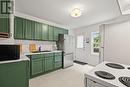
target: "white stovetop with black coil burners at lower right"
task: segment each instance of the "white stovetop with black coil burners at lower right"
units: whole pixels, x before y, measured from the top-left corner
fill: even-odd
[[[110,67],[109,64],[114,65],[114,68]],[[121,66],[122,68],[119,68],[118,65]],[[113,75],[115,79],[107,79],[106,77],[108,74],[103,74],[106,75],[105,77],[103,77],[102,75],[99,76],[99,74],[96,73],[96,72],[99,73],[99,71],[107,72],[111,74],[111,76]],[[97,65],[90,72],[87,72],[85,76],[86,78],[89,78],[98,83],[102,83],[103,85],[108,87],[130,87],[126,86],[119,80],[119,78],[121,77],[130,77],[130,66],[124,64],[104,61],[103,63]]]

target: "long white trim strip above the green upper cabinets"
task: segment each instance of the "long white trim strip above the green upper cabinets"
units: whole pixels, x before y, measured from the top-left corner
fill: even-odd
[[[57,24],[57,23],[46,21],[46,20],[43,20],[43,19],[31,16],[31,15],[28,15],[28,14],[20,13],[20,12],[15,12],[14,15],[18,16],[18,17],[25,18],[25,19],[42,22],[42,23],[45,23],[45,24],[48,24],[48,25],[52,25],[52,26],[56,26],[56,27],[62,27],[62,28],[65,28],[65,29],[71,29],[69,26],[60,25],[60,24]]]

